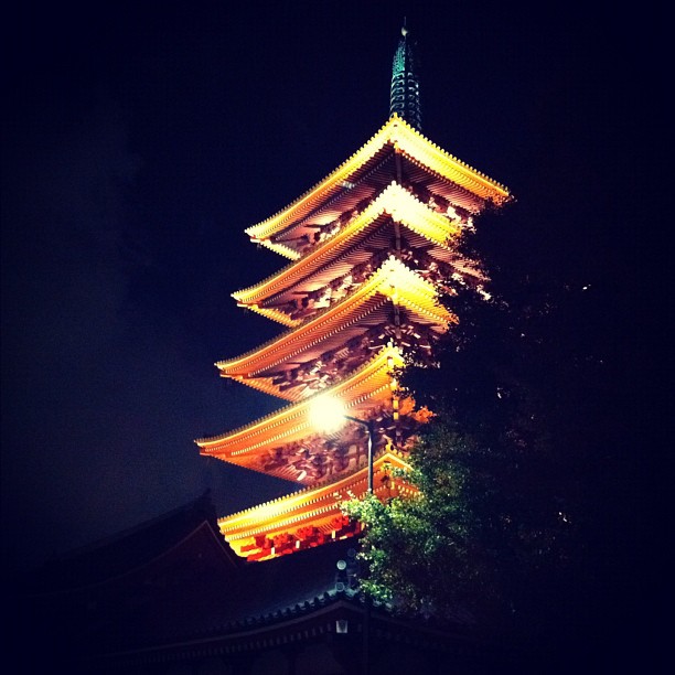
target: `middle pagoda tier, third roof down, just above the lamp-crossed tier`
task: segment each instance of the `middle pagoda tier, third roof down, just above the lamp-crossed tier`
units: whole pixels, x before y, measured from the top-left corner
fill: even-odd
[[[394,257],[334,306],[243,356],[216,363],[224,377],[299,400],[347,377],[390,341],[431,344],[457,319],[433,285]]]

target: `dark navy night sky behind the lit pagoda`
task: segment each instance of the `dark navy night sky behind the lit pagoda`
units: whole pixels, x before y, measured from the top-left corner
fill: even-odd
[[[424,132],[515,193],[504,226],[523,259],[592,270],[614,301],[618,288],[639,301],[640,242],[658,227],[644,169],[658,153],[665,18],[492,4],[4,10],[10,560],[62,554],[207,488],[221,515],[293,489],[202,458],[193,439],[283,405],[213,365],[280,330],[229,297],[286,264],[244,229],[386,121],[405,15]]]

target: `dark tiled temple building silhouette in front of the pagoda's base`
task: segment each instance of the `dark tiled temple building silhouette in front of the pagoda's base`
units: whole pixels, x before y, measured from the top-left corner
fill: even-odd
[[[364,635],[354,539],[249,562],[208,494],[10,589],[21,671],[133,674],[486,673],[513,655],[458,617],[374,607]],[[367,638],[367,641],[366,641]]]

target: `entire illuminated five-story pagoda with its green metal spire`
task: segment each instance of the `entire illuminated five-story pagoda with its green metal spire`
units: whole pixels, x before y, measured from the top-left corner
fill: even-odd
[[[459,253],[489,206],[511,200],[500,183],[421,133],[415,45],[404,28],[394,56],[389,118],[356,152],[291,204],[248,227],[250,240],[288,259],[233,293],[283,329],[221,361],[221,376],[281,401],[250,424],[195,442],[200,453],[293,481],[299,490],[222,518],[233,550],[267,560],[358,534],[341,504],[369,489],[406,493],[392,468],[428,411],[399,390],[414,358],[433,362],[459,319],[439,301],[458,285],[481,291],[480,267]],[[340,400],[345,425],[312,425],[312,406]]]

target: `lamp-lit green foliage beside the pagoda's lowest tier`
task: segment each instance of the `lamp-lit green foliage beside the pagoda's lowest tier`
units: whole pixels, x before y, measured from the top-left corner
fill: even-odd
[[[406,479],[420,489],[418,495],[386,504],[368,496],[345,505],[366,526],[360,555],[369,576],[363,587],[375,599],[441,614],[471,601],[481,576],[480,567],[469,564],[476,525],[465,496],[467,472],[452,457],[470,452],[464,439],[438,429],[413,452]]]

